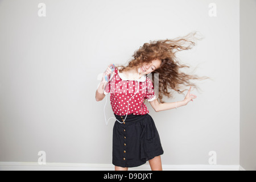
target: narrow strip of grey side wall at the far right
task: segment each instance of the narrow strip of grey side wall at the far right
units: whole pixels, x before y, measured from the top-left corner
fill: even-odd
[[[256,170],[256,1],[240,1],[240,164]]]

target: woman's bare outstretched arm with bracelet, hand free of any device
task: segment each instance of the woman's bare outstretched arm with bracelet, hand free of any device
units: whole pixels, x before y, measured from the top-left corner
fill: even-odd
[[[189,88],[188,93],[185,96],[183,101],[159,103],[158,100],[155,99],[154,101],[150,101],[150,105],[153,107],[153,109],[156,112],[159,112],[162,110],[174,109],[174,108],[176,108],[176,106],[177,107],[185,106],[188,104],[189,101],[193,101],[193,99],[196,98],[195,95],[190,94],[190,90],[191,90],[191,87]]]

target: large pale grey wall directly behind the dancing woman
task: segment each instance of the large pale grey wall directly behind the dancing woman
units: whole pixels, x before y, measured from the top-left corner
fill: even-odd
[[[179,58],[213,81],[177,110],[147,103],[162,163],[208,164],[216,151],[217,164],[239,164],[239,16],[238,0],[0,1],[0,161],[37,162],[46,151],[49,163],[112,163],[114,122],[105,125],[105,99],[95,101],[97,77],[145,42],[199,31],[205,38]]]

